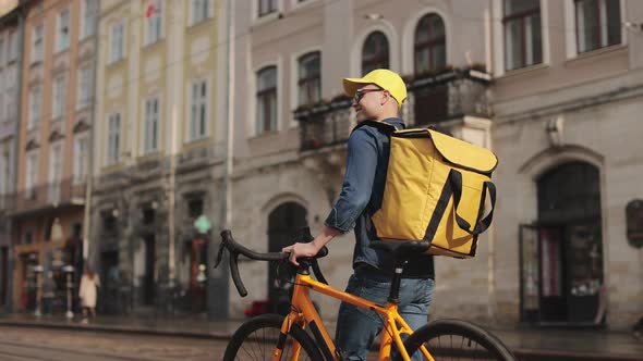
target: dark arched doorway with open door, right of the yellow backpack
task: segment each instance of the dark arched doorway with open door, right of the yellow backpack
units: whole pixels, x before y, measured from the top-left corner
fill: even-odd
[[[538,221],[521,226],[521,314],[539,324],[604,322],[598,170],[558,166],[537,180]]]

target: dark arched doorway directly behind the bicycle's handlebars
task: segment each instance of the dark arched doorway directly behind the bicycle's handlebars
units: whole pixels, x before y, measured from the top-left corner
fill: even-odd
[[[308,224],[306,214],[306,209],[295,202],[282,203],[270,212],[268,215],[268,251],[279,252],[283,247],[292,245],[299,231]],[[291,286],[288,266],[270,263],[269,267],[269,307],[274,312],[287,313],[290,311],[288,307],[288,300],[290,299],[288,289]]]

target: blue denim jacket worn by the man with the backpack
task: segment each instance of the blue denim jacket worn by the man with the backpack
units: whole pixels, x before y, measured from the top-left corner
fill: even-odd
[[[405,127],[398,117],[384,122],[398,129]],[[373,122],[361,123],[351,133],[341,194],[325,224],[342,233],[354,228],[353,267],[367,264],[384,273],[392,272],[388,252],[369,247],[372,240],[378,239],[371,216],[381,208],[389,155],[389,135]],[[420,256],[411,260],[404,276],[434,278],[433,257]]]

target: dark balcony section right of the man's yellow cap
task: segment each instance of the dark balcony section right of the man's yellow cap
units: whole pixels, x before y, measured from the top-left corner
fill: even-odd
[[[489,74],[473,69],[416,76],[408,84],[407,124],[435,125],[465,115],[490,117],[490,78]]]

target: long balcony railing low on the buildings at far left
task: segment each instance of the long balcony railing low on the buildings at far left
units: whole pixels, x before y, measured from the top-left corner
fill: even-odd
[[[5,196],[3,202],[4,209],[10,213],[37,211],[61,206],[80,206],[85,202],[85,184],[64,179],[39,185]]]

